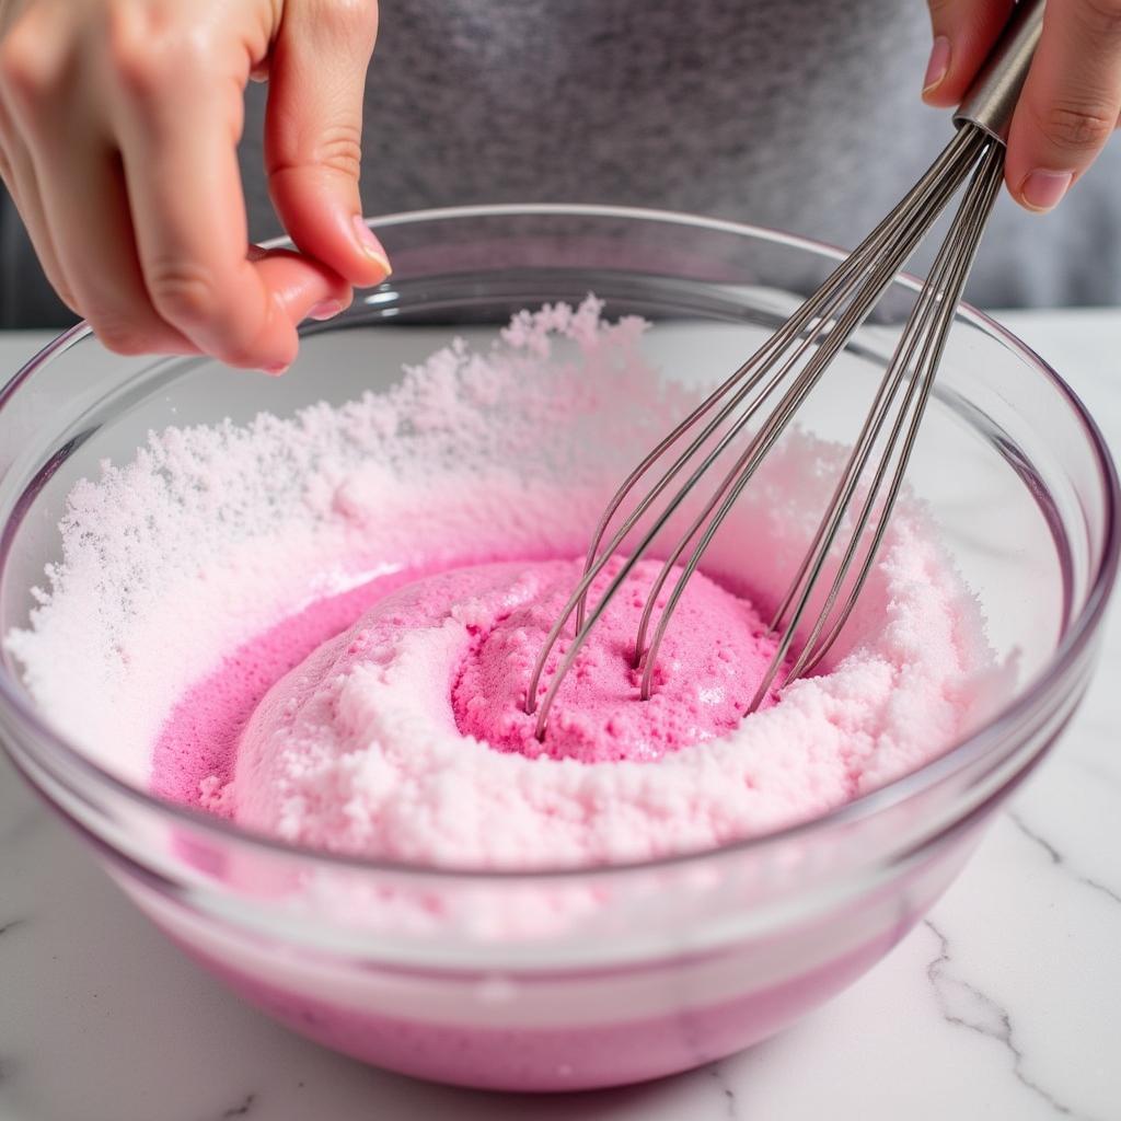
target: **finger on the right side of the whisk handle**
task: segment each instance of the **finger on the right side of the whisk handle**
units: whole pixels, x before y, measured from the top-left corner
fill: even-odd
[[[1032,211],[1056,206],[1121,114],[1121,0],[1050,0],[1012,119],[1004,177]]]

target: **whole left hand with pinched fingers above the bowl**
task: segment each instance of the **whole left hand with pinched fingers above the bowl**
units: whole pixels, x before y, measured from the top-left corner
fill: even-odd
[[[124,354],[280,372],[380,282],[358,192],[377,0],[0,0],[0,174],[52,285]],[[250,245],[243,93],[298,252]]]

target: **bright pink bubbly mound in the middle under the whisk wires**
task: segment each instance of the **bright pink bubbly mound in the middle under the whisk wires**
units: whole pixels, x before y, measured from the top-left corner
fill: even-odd
[[[622,567],[614,558],[592,587],[591,602]],[[640,698],[642,670],[633,665],[634,639],[647,595],[661,565],[641,560],[612,597],[562,682],[537,739],[537,716],[526,713],[534,665],[558,618],[580,566],[548,592],[473,637],[452,687],[456,726],[466,735],[529,758],[611,762],[652,761],[731,732],[775,654],[776,638],[754,608],[702,573],[686,585],[667,629],[652,675],[652,695]],[[656,605],[665,606],[680,569],[675,569]],[[650,631],[652,636],[652,627]],[[553,648],[537,687],[544,697],[571,646],[572,623]],[[771,692],[762,707],[775,701]]]

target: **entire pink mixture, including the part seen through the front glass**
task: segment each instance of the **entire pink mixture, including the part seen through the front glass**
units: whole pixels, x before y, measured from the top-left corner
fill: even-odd
[[[630,615],[558,694],[564,734],[544,749],[534,736],[519,691],[559,602],[532,584],[538,562],[580,552],[611,481],[687,404],[673,387],[651,395],[640,334],[600,322],[593,300],[546,308],[485,353],[441,351],[385,396],[155,435],[136,463],[76,489],[56,594],[11,639],[37,700],[129,778],[251,833],[371,861],[177,825],[178,863],[207,881],[200,899],[123,884],[239,992],[341,1050],[508,1088],[679,1071],[846,984],[960,862],[963,845],[934,843],[863,882],[854,870],[897,847],[891,815],[859,836],[810,831],[759,868],[721,851],[923,766],[975,719],[991,651],[910,501],[836,665],[780,703],[740,720],[769,660],[757,617],[729,645],[683,601],[687,626],[636,710],[640,597],[624,596]],[[550,356],[554,335],[574,360]],[[624,428],[619,400],[642,402]],[[816,524],[807,501],[841,457],[808,435],[778,448],[706,556],[712,572],[777,602]],[[421,567],[322,597],[398,557]],[[525,618],[502,615],[503,585],[481,573],[485,586],[444,587],[442,613],[425,615],[451,565],[495,558],[529,558],[506,584]],[[321,599],[281,618],[308,595]],[[688,853],[707,855],[663,863]],[[595,877],[619,863],[642,867]],[[441,879],[456,868],[482,874]],[[535,874],[546,868],[573,871]],[[797,906],[753,923],[776,898]],[[336,942],[345,954],[322,948]]]

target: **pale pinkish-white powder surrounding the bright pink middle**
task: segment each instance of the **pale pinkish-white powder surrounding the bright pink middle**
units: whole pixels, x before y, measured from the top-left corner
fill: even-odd
[[[645,324],[601,312],[592,297],[522,312],[489,348],[455,341],[386,392],[169,428],[105,464],[71,495],[30,628],[6,639],[36,701],[103,767],[149,784],[187,687],[286,615],[376,573],[581,555],[617,481],[710,388],[666,381],[642,356]],[[787,438],[706,571],[773,604],[841,458]],[[823,813],[921,766],[980,719],[999,676],[978,606],[910,497],[827,673],[657,762],[492,750],[433,716],[452,683],[429,674],[443,693],[416,688],[400,666],[430,651],[408,633],[399,647],[380,678],[365,664],[344,675],[345,734],[321,730],[303,762],[274,743],[239,761],[232,793],[212,780],[200,797],[290,840],[423,863],[657,856]],[[308,797],[327,787],[331,799]]]

